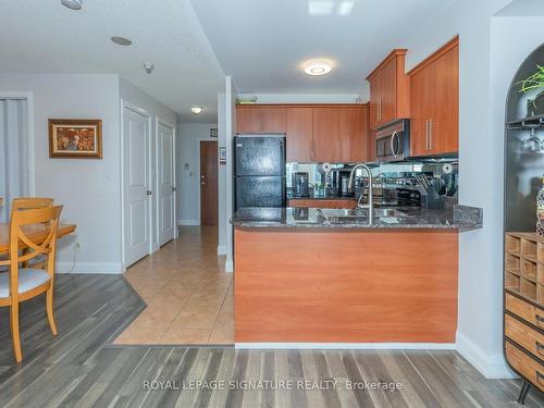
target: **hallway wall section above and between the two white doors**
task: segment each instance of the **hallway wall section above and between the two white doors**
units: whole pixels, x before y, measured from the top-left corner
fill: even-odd
[[[120,79],[119,82],[119,91],[120,91],[120,98],[124,102],[128,102],[132,106],[135,106],[137,108],[144,109],[147,114],[151,118],[151,190],[153,193],[158,191],[157,187],[157,121],[163,121],[172,126],[176,126],[177,122],[177,114],[170,108],[168,108],[165,104],[159,102],[157,99],[151,97],[150,95],[144,92],[141,89],[136,87],[135,85],[131,84],[129,82],[125,79]],[[121,103],[118,106],[118,111],[121,112]],[[175,131],[177,133],[177,129]],[[177,141],[180,137],[176,135]],[[176,141],[176,143],[177,143]],[[120,158],[120,164],[121,164],[121,158]],[[177,163],[176,163],[177,166]],[[121,171],[121,168],[120,168]],[[177,181],[176,181],[177,182]],[[121,194],[121,188],[120,188],[120,194]],[[157,194],[153,196],[153,198],[157,198]],[[153,199],[152,205],[151,205],[151,215],[152,220],[158,220],[158,207],[157,202]],[[159,233],[157,228],[157,222],[153,222],[151,225],[152,230],[152,245],[153,245],[153,251],[159,249]]]

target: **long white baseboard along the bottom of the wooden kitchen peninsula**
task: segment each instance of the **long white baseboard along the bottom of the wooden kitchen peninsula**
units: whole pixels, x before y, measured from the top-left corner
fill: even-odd
[[[275,349],[455,350],[454,343],[235,343],[234,346]]]

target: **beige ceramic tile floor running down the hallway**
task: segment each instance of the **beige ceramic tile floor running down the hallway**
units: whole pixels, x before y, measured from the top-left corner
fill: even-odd
[[[234,344],[232,274],[217,248],[217,227],[184,226],[132,265],[125,277],[147,308],[113,344]]]

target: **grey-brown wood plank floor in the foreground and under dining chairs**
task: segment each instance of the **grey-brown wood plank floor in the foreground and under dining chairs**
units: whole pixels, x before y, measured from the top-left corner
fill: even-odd
[[[115,346],[111,342],[144,308],[123,276],[59,275],[57,294],[57,337],[42,296],[24,304],[20,366],[13,363],[7,311],[0,313],[1,407],[517,406],[520,381],[485,380],[455,351]],[[146,388],[146,381],[158,386],[154,380],[178,390]],[[195,383],[212,380],[224,385],[208,390]],[[271,386],[293,381],[294,390],[228,390],[231,381],[255,386],[259,380]],[[302,380],[311,383],[297,390]],[[341,388],[309,390],[327,380]],[[348,380],[398,382],[403,390],[354,392],[345,390]],[[543,407],[542,394],[531,391],[526,406]]]

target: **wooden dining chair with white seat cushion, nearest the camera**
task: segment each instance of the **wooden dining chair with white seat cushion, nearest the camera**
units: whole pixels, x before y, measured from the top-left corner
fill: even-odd
[[[20,302],[46,293],[47,318],[51,332],[57,335],[53,317],[53,283],[57,228],[61,211],[62,206],[57,206],[11,213],[9,259],[0,261],[0,264],[9,265],[8,272],[0,273],[0,307],[10,307],[11,338],[17,362],[23,360],[18,332]],[[33,240],[38,234],[44,236],[44,233],[47,234],[44,240]],[[22,254],[22,247],[27,247],[28,251]],[[47,257],[47,270],[20,268],[20,263],[40,255]]]

